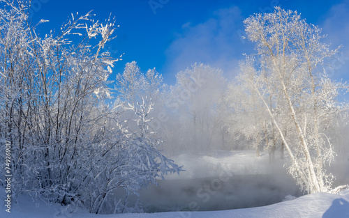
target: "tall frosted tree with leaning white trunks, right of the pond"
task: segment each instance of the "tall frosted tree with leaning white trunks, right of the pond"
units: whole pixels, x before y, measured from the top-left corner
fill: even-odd
[[[291,10],[276,7],[244,23],[257,54],[242,64],[243,82],[269,114],[288,152],[289,173],[306,192],[328,192],[333,180],[325,165],[334,152],[326,130],[336,114],[348,109],[337,100],[348,86],[323,70],[338,49],[330,50],[321,42],[321,29]]]

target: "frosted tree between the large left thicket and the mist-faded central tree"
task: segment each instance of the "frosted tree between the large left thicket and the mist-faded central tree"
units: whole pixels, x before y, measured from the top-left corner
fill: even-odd
[[[122,110],[128,120],[128,128],[140,137],[156,134],[152,128],[155,109],[160,106],[163,95],[163,77],[154,69],[145,75],[135,61],[126,63],[122,74],[117,75],[115,90],[124,102]],[[158,112],[158,111],[156,111]]]

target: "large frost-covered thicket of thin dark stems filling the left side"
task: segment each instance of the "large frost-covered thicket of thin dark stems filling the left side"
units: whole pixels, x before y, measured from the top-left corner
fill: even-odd
[[[0,142],[12,146],[13,199],[29,192],[90,212],[128,212],[128,194],[181,170],[155,141],[130,134],[122,105],[104,104],[118,61],[102,52],[114,38],[114,20],[102,24],[90,13],[76,14],[57,33],[40,37],[27,1],[1,3]],[[144,111],[139,116],[146,123]],[[126,190],[122,203],[112,198],[119,188]]]

